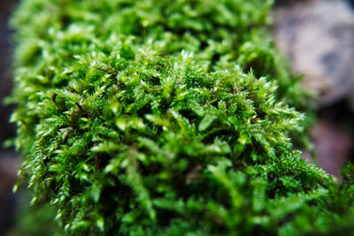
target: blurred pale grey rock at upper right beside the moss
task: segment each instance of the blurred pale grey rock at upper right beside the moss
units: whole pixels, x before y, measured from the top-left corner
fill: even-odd
[[[273,12],[274,36],[304,85],[327,106],[349,99],[354,111],[354,12],[342,0],[291,1]]]

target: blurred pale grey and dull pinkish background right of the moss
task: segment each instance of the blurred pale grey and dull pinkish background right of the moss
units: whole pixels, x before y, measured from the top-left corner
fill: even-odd
[[[279,0],[273,9],[275,43],[294,74],[317,93],[312,141],[320,167],[341,179],[353,158],[354,1]],[[304,158],[314,159],[304,152]],[[351,160],[350,160],[351,159]]]

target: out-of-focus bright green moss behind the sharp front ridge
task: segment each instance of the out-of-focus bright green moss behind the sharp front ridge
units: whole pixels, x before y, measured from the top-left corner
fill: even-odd
[[[57,60],[72,62],[73,55],[96,48],[109,52],[114,39],[131,37],[132,43],[150,44],[160,55],[194,52],[209,70],[233,69],[278,81],[279,98],[308,107],[296,80],[290,77],[286,60],[273,47],[268,28],[269,0],[25,0],[12,20],[21,45],[18,63],[37,65]],[[58,45],[58,37],[66,41]],[[90,48],[91,47],[91,48]],[[47,52],[46,56],[41,51]],[[50,69],[49,69],[50,70]]]

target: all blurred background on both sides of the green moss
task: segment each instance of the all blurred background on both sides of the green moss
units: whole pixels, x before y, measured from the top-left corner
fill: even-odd
[[[13,107],[3,100],[12,88],[8,19],[16,3],[0,0],[0,143],[15,135],[8,122]],[[275,42],[293,73],[304,75],[304,86],[318,93],[312,128],[317,162],[341,179],[343,164],[354,161],[354,0],[279,0],[273,19]],[[303,156],[315,159],[306,151]],[[12,194],[19,165],[13,148],[0,145],[0,235],[53,235],[58,232],[51,222],[53,209],[29,208],[26,187]]]

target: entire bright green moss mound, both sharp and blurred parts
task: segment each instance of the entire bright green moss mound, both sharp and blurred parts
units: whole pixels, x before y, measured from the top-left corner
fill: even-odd
[[[351,165],[339,185],[292,149],[306,96],[270,6],[23,0],[9,100],[32,202],[72,235],[351,231]]]

